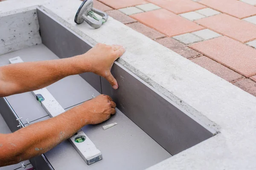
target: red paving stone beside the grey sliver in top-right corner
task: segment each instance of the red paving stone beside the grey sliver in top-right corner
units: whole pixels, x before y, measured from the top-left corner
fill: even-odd
[[[198,1],[198,3],[240,19],[256,14],[255,6],[243,3],[239,0],[201,0]]]

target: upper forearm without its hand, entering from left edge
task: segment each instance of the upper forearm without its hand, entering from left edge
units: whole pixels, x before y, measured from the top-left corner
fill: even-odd
[[[88,64],[76,56],[5,65],[0,67],[0,97],[37,90],[64,77],[88,72]]]

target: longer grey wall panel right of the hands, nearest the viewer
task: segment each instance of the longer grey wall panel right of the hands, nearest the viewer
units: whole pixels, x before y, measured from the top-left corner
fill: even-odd
[[[213,136],[118,63],[111,72],[119,88],[113,90],[102,78],[102,94],[110,95],[120,111],[172,155]]]

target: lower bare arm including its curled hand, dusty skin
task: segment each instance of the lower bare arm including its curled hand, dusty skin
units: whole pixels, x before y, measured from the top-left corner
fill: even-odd
[[[100,95],[67,112],[14,133],[0,134],[0,167],[17,164],[55,147],[81,127],[98,124],[116,113],[111,97]]]

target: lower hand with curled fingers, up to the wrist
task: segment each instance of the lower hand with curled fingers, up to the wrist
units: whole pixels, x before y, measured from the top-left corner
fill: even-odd
[[[80,105],[85,111],[87,124],[95,125],[108,120],[116,113],[116,103],[110,96],[102,94]]]

